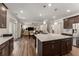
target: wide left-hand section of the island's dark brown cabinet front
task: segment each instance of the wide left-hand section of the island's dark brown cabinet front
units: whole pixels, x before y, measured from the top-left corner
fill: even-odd
[[[60,42],[59,41],[51,41],[49,43],[47,42],[47,44],[43,46],[43,55],[45,56],[60,55]]]

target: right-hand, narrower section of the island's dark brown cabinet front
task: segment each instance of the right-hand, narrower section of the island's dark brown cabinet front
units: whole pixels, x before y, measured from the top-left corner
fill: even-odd
[[[61,40],[61,55],[65,55],[72,50],[72,39]]]

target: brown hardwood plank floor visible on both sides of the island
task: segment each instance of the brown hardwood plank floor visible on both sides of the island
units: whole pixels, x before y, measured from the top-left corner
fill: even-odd
[[[14,42],[12,56],[36,56],[35,40],[30,37],[22,37]],[[79,48],[72,47],[72,51],[65,56],[79,56]]]

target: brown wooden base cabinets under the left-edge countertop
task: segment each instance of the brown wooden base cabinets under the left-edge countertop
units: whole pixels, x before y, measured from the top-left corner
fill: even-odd
[[[9,56],[13,51],[13,38],[0,45],[0,56]]]

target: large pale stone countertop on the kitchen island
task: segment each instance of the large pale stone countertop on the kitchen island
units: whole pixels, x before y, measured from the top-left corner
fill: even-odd
[[[35,36],[41,42],[50,41],[50,40],[60,40],[60,39],[72,38],[72,36],[66,36],[66,35],[61,35],[61,34],[38,34],[38,35],[35,35]]]

